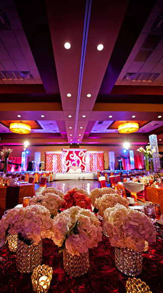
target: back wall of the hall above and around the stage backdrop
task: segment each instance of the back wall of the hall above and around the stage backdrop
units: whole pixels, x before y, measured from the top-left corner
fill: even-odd
[[[134,151],[134,155],[141,155],[143,159],[143,155],[136,150],[140,148],[142,145],[131,145],[130,150]],[[11,157],[21,157],[21,153],[23,151],[23,146],[22,145],[7,145],[3,146],[3,148],[7,149],[12,149],[13,152],[11,153]],[[62,151],[63,148],[69,149],[68,145],[29,145],[27,150],[29,151],[28,155],[28,161],[33,161],[34,160],[34,152],[40,152],[41,153],[41,161],[45,161],[45,152],[57,152],[57,151]],[[123,148],[121,145],[80,145],[80,149],[84,148],[87,149],[88,151],[104,151],[104,168],[108,169],[109,167],[109,157],[108,157],[108,152],[109,151],[114,151],[115,157],[119,155],[126,155],[123,153]],[[163,145],[159,146],[159,151],[163,152]],[[117,167],[118,162],[115,160],[115,167]],[[43,165],[43,169],[44,169]]]

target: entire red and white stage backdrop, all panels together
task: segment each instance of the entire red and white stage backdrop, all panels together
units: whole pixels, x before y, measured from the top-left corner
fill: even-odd
[[[84,172],[104,169],[104,152],[87,152],[87,149],[63,149],[63,152],[46,152],[46,170],[68,172],[80,168]]]

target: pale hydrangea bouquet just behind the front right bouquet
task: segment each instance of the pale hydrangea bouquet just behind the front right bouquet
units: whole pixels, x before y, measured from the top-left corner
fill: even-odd
[[[126,208],[129,207],[129,203],[125,197],[121,197],[117,193],[104,194],[95,200],[94,206],[98,209],[99,215],[103,217],[104,211],[107,208],[112,208],[116,203],[123,204]]]

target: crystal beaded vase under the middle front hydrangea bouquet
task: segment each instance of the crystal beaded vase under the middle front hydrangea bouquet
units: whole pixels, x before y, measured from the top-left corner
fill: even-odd
[[[89,252],[71,255],[67,249],[63,250],[63,267],[70,277],[80,277],[86,274],[90,267]]]

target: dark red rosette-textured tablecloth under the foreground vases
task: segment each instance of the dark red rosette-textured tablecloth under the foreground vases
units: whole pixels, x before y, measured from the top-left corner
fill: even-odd
[[[90,269],[81,277],[69,277],[63,269],[63,255],[52,240],[43,240],[43,263],[53,268],[49,293],[125,293],[129,276],[119,272],[114,263],[114,248],[102,237],[98,247],[89,250]],[[6,262],[0,266],[0,291],[32,293],[31,273],[16,269],[16,254],[8,245],[0,252]],[[157,240],[143,254],[143,271],[138,276],[149,285],[152,293],[163,293],[163,240]]]

